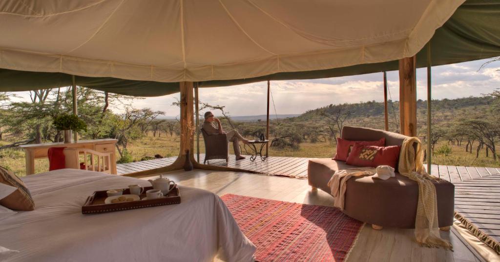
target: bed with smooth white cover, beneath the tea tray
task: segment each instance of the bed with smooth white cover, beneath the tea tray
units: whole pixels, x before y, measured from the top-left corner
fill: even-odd
[[[23,177],[35,210],[0,220],[9,261],[253,261],[255,246],[224,202],[206,190],[179,186],[180,204],[81,214],[95,190],[148,181],[77,169]]]

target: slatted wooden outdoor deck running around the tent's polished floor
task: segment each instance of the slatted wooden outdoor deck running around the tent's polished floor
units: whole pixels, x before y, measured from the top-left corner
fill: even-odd
[[[196,155],[195,155],[196,157]],[[204,154],[200,154],[202,162]],[[176,157],[117,164],[118,174],[133,173],[162,167]],[[246,169],[270,175],[307,178],[307,161],[304,157],[269,156],[265,161],[249,157],[236,161],[210,160],[209,164]],[[432,165],[431,173],[455,185],[455,210],[469,219],[484,233],[500,241],[500,169],[490,167]]]

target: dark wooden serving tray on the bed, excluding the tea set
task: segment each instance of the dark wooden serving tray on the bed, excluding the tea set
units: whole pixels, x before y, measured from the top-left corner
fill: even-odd
[[[179,188],[177,185],[172,185],[174,188],[168,192],[166,197],[155,198],[155,199],[146,199],[146,200],[137,200],[137,201],[129,201],[129,202],[119,202],[119,203],[104,203],[104,199],[106,199],[107,194],[106,190],[95,191],[90,196],[87,197],[85,204],[81,207],[81,213],[83,214],[93,214],[93,213],[105,213],[105,212],[114,212],[114,211],[122,211],[128,209],[136,209],[143,207],[151,207],[158,205],[166,205],[166,204],[178,204],[180,203],[180,194]],[[152,186],[144,186],[144,190],[139,197],[142,199],[146,196],[146,190],[152,189]],[[123,194],[129,194],[130,190],[128,188],[120,189],[123,190]]]

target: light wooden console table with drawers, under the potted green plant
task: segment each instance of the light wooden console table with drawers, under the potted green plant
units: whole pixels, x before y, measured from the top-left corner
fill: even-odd
[[[116,153],[115,143],[116,139],[95,139],[95,140],[79,140],[73,143],[37,143],[37,144],[23,144],[19,147],[24,149],[26,158],[26,175],[34,173],[34,159],[47,157],[47,151],[50,147],[69,147],[69,148],[88,148],[97,152],[111,153],[111,173],[116,174]]]

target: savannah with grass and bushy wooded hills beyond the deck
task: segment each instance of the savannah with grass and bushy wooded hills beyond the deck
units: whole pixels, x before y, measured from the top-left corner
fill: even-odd
[[[494,142],[500,140],[500,125],[496,120],[497,111],[500,106],[500,93],[496,96],[465,97],[457,99],[443,99],[432,101],[432,135],[440,134],[434,145],[433,164],[461,165],[461,166],[485,166],[500,167],[500,158],[493,159],[493,153],[489,151],[486,156],[486,147],[479,148],[476,157],[477,139],[471,138],[473,129],[467,127],[468,121],[480,118],[488,128],[489,134],[493,134]],[[214,112],[217,116],[217,112]],[[389,100],[389,130],[397,131],[398,128],[398,102]],[[272,119],[270,122],[270,139],[280,138],[273,146],[269,147],[270,156],[289,157],[332,157],[335,152],[335,137],[339,136],[338,121],[342,119],[341,125],[363,126],[376,129],[384,128],[383,103],[368,101],[351,104],[327,105],[317,109],[308,110],[299,116],[285,119]],[[265,132],[265,121],[235,121],[231,123],[243,136],[254,139],[259,133]],[[163,120],[164,121],[164,120]],[[175,121],[175,120],[172,120]],[[230,123],[222,120],[224,130],[232,129]],[[178,128],[178,123],[176,127]],[[426,137],[426,102],[417,101],[417,136],[422,141],[425,149],[428,139]],[[482,130],[482,128],[479,128]],[[476,128],[477,131],[477,128]],[[127,150],[131,157],[127,161],[139,161],[154,157],[159,154],[162,157],[177,156],[179,151],[178,130],[165,133],[165,130],[153,136],[152,131],[137,131],[136,138],[130,139]],[[487,135],[487,134],[486,134]],[[104,138],[104,137],[103,137]],[[18,139],[8,133],[3,135],[0,146],[12,143]],[[88,139],[88,138],[87,138]],[[475,139],[475,140],[474,140]],[[472,140],[472,152],[466,152],[467,141]],[[486,141],[486,140],[483,140]],[[200,134],[200,152],[204,152],[204,143]],[[196,143],[194,144],[196,148]],[[230,153],[233,153],[232,145],[229,145]],[[194,152],[196,150],[194,149]],[[498,151],[496,152],[499,154]],[[117,158],[119,158],[116,150]],[[146,158],[144,158],[146,157]],[[201,161],[203,159],[200,159]],[[24,175],[24,152],[18,147],[0,150],[0,165],[13,170],[17,175]],[[37,159],[35,162],[36,172],[48,169],[47,159]]]

